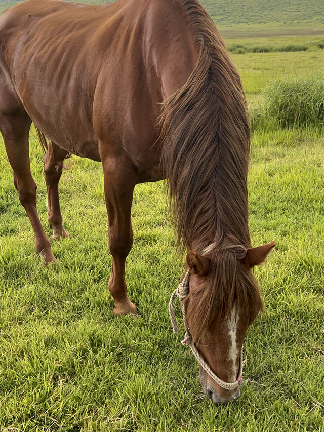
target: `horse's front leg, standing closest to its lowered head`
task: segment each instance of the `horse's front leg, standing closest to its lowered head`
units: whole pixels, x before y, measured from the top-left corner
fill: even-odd
[[[102,165],[112,255],[108,288],[115,302],[114,315],[125,315],[136,311],[128,298],[125,282],[125,261],[133,244],[131,207],[136,182],[128,162],[102,158]]]

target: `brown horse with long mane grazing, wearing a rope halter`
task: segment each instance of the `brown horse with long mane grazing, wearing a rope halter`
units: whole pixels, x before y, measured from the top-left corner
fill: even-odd
[[[1,17],[0,130],[36,251],[50,263],[29,166],[32,121],[50,139],[44,162],[55,238],[68,237],[58,195],[64,158],[102,163],[115,315],[136,310],[124,274],[134,186],[168,179],[178,246],[188,251],[187,322],[214,373],[235,381],[247,328],[262,309],[251,268],[274,243],[251,248],[246,99],[198,1],[27,0]],[[239,396],[239,385],[224,390],[202,369],[200,381],[215,403]]]

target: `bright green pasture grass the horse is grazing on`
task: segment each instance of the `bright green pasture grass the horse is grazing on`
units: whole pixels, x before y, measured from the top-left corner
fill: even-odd
[[[316,73],[324,50],[232,58],[252,109],[270,80]],[[50,236],[43,154],[33,131],[30,149],[39,216]],[[135,188],[126,278],[139,313],[116,319],[107,287],[111,256],[101,166],[75,156],[66,164],[60,197],[70,239],[52,241],[59,261],[45,267],[0,142],[1,430],[323,431],[321,131],[260,127],[253,133],[252,243],[275,240],[277,246],[255,271],[265,315],[247,334],[242,395],[218,407],[200,390],[181,330],[172,333],[168,301],[183,262],[174,256],[164,183]]]

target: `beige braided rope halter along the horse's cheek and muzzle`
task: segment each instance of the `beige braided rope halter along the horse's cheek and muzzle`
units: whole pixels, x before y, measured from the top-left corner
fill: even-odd
[[[205,252],[205,251],[204,251]],[[190,278],[190,272],[189,270],[186,271],[186,274],[183,278],[183,280],[178,285],[178,288],[174,290],[174,292],[171,295],[170,302],[169,302],[169,315],[171,319],[171,324],[173,331],[175,333],[179,333],[179,326],[176,319],[176,314],[174,310],[173,302],[178,297],[180,308],[182,312],[182,318],[183,318],[183,324],[185,328],[185,335],[184,339],[181,342],[183,345],[188,345],[191,349],[192,354],[197,359],[199,365],[208,373],[208,375],[213,378],[213,380],[222,388],[225,390],[234,390],[241,382],[242,382],[242,369],[243,369],[243,346],[241,350],[241,357],[239,360],[239,372],[237,380],[234,382],[225,382],[221,380],[210,368],[210,366],[205,362],[204,358],[201,356],[200,352],[198,351],[195,343],[192,340],[191,333],[187,324],[186,319],[186,305],[185,305],[185,298],[189,294],[189,278]]]

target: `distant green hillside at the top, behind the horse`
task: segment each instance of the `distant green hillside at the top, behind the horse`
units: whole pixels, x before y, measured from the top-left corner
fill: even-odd
[[[0,0],[0,13],[19,1]],[[79,3],[111,2],[84,0]],[[225,36],[231,33],[324,33],[323,0],[201,0],[201,4]]]

